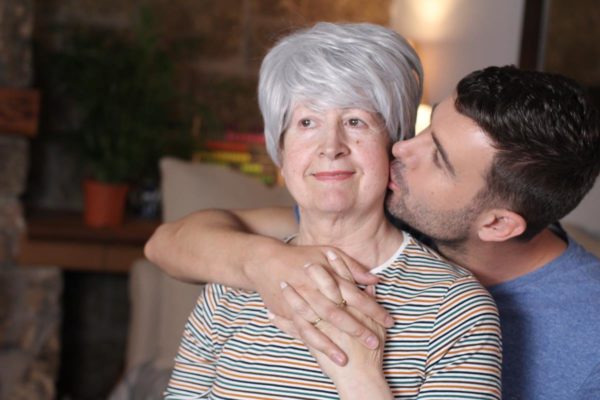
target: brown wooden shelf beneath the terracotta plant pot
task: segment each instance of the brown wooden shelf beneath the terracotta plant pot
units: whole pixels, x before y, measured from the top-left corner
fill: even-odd
[[[143,257],[144,243],[159,221],[128,218],[114,228],[91,228],[76,212],[38,211],[27,216],[19,265],[65,270],[127,273]]]

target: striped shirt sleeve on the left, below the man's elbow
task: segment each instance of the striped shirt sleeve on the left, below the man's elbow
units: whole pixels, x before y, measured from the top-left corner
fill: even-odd
[[[188,317],[165,399],[204,399],[215,378],[215,360],[220,346],[214,332],[213,314],[221,291],[208,284]]]

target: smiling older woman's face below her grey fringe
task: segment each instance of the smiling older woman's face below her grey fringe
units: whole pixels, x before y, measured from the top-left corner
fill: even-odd
[[[282,175],[302,209],[381,212],[390,142],[377,114],[297,105],[284,133]]]

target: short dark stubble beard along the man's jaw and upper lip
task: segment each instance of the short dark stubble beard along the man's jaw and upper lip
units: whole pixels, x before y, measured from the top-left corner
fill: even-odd
[[[408,205],[405,200],[410,199],[410,189],[402,177],[403,168],[399,160],[392,163],[390,178],[401,189],[401,193],[389,193],[386,199],[389,215],[398,220],[395,224],[412,231],[417,237],[425,236],[440,250],[460,250],[481,212],[480,196],[476,195],[470,204],[457,210],[434,210],[426,204]]]

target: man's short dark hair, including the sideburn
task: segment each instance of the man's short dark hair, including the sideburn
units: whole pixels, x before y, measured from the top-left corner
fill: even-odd
[[[458,83],[455,106],[497,150],[482,201],[525,218],[521,239],[564,217],[594,185],[600,172],[599,113],[575,81],[488,67]]]

